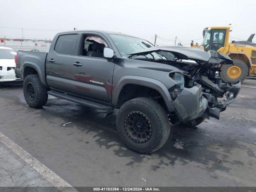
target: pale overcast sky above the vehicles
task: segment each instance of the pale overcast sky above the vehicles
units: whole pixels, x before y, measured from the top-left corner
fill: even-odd
[[[52,39],[65,30],[122,32],[157,44],[202,42],[202,30],[228,26],[232,40],[256,33],[256,0],[8,0],[1,4],[0,38]],[[14,29],[18,28],[18,29]],[[35,30],[28,30],[35,29]],[[253,39],[256,41],[256,38]]]

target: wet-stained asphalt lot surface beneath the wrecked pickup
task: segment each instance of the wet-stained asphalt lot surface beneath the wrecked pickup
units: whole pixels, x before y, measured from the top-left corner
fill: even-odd
[[[30,108],[22,86],[0,85],[2,139],[71,186],[256,186],[256,80],[242,84],[220,120],[171,126],[166,144],[149,155],[126,148],[115,115],[106,114],[51,96]],[[173,147],[176,140],[184,149]],[[53,186],[3,142],[0,162],[0,186]]]

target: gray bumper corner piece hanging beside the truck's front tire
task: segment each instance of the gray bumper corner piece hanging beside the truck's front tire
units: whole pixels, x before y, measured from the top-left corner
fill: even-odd
[[[202,116],[208,108],[208,102],[202,95],[202,86],[200,84],[192,88],[184,88],[172,105],[183,122]]]

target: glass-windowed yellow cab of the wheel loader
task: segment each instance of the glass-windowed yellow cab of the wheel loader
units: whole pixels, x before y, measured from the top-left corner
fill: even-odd
[[[204,40],[201,48],[205,51],[215,50],[222,52],[228,44],[228,28],[205,28],[203,30]]]

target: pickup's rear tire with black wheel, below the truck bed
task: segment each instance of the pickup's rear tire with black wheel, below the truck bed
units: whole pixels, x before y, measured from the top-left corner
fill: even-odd
[[[26,76],[23,93],[27,104],[32,108],[44,106],[48,99],[47,88],[42,85],[38,75]]]

